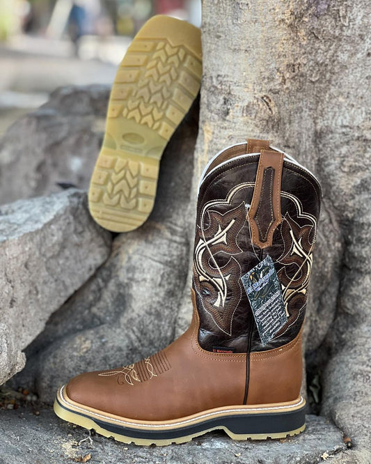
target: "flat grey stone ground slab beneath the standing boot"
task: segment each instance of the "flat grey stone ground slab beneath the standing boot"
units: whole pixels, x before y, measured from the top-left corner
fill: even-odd
[[[314,415],[308,415],[306,422],[304,433],[285,440],[235,442],[222,431],[214,431],[182,445],[138,447],[100,435],[93,435],[90,444],[88,431],[61,421],[49,408],[40,409],[38,416],[31,408],[0,410],[0,464],[63,464],[87,454],[92,463],[102,464],[315,464],[325,453],[344,454],[342,433],[336,426]],[[22,433],[25,427],[26,433]]]

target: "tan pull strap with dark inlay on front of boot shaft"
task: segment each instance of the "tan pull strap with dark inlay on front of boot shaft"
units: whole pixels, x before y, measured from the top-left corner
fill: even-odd
[[[253,199],[248,210],[253,245],[271,247],[273,233],[282,222],[281,178],[283,153],[261,150]]]

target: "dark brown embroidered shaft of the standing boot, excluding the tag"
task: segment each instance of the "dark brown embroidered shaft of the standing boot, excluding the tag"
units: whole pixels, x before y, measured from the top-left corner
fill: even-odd
[[[301,329],[321,189],[313,174],[267,141],[223,150],[200,180],[194,247],[198,341],[208,351],[278,348]],[[270,256],[287,322],[262,345],[242,276]]]

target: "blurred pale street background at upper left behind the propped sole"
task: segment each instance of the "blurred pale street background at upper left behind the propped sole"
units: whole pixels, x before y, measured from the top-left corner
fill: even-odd
[[[0,0],[0,137],[56,87],[111,84],[152,15],[201,22],[200,0]]]

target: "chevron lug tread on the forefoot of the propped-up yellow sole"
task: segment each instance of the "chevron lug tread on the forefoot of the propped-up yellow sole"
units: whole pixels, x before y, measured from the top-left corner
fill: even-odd
[[[134,40],[116,76],[121,88],[112,93],[109,117],[132,119],[168,141],[196,98],[201,75],[200,59],[187,47]]]

